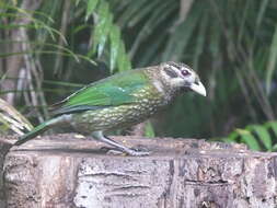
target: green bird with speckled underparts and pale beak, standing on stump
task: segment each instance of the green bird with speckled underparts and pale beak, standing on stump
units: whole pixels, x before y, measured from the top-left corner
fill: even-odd
[[[68,125],[120,152],[148,155],[149,151],[124,147],[104,136],[103,131],[139,124],[187,90],[206,96],[197,73],[181,62],[169,61],[116,73],[55,104],[54,118],[38,125],[14,145],[20,146],[51,127]]]

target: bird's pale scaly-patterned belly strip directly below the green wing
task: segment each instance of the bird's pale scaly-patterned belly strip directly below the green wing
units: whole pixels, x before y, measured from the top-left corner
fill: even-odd
[[[153,103],[127,104],[72,115],[76,130],[90,134],[95,130],[119,129],[139,124],[153,115],[161,105]]]

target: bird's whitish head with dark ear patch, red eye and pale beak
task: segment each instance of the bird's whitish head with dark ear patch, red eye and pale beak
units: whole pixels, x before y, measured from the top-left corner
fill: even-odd
[[[187,89],[206,96],[206,89],[198,74],[182,62],[163,62],[160,65],[162,80],[172,89]]]

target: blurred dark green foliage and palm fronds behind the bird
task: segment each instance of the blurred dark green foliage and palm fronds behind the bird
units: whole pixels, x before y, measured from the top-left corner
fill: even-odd
[[[153,119],[154,130],[147,125],[147,135],[228,137],[274,150],[277,140],[267,126],[250,124],[276,119],[277,1],[28,2],[0,4],[1,94],[13,92],[12,104],[24,115],[35,105],[34,117],[45,119],[47,104],[83,84],[131,66],[175,60],[198,71],[208,97],[178,97]],[[14,56],[23,59],[18,68],[10,65]]]

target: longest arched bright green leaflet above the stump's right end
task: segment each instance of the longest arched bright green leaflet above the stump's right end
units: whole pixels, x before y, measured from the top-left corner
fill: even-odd
[[[262,125],[249,125],[246,127],[246,129],[250,130],[250,131],[256,132],[256,135],[258,136],[259,140],[263,142],[265,148],[267,150],[272,150],[272,147],[273,147],[272,138],[270,138],[270,135],[268,134],[268,131],[266,130],[266,128],[264,126],[262,126]]]

